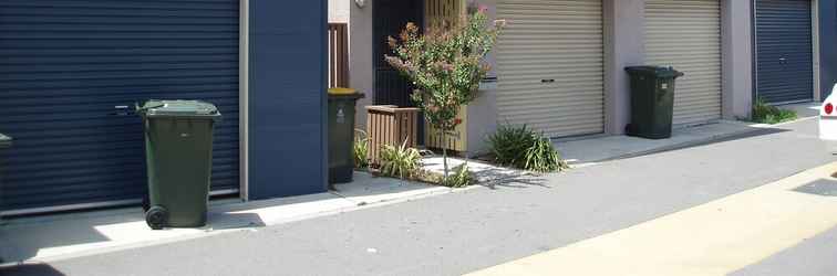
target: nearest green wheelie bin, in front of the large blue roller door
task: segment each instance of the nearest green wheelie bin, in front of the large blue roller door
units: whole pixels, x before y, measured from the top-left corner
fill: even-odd
[[[154,230],[206,225],[218,108],[200,100],[148,100],[137,114],[145,125],[146,223]]]

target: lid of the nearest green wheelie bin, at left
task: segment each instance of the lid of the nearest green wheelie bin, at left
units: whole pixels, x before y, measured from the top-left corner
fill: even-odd
[[[215,105],[202,100],[158,100],[151,99],[137,107],[146,118],[203,118],[220,119],[220,112]]]

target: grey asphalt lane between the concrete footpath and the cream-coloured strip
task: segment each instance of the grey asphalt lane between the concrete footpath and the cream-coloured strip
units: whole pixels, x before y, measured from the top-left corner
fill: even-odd
[[[817,139],[816,120],[783,128],[496,189],[18,267],[0,275],[458,275],[837,160]],[[829,237],[834,241],[834,235],[817,238]],[[769,269],[817,250],[823,246],[758,265]],[[827,264],[807,265],[833,267],[830,256],[822,259]],[[762,275],[758,272],[742,275]]]

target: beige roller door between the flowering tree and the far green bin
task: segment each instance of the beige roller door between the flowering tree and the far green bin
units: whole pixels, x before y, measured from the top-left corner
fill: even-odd
[[[603,131],[600,0],[504,0],[499,38],[500,121],[528,124],[550,137]]]

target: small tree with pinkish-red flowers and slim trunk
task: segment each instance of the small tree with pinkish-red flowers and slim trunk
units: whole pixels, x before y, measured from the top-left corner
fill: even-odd
[[[487,22],[485,8],[454,21],[432,25],[422,34],[407,23],[399,39],[389,38],[394,55],[386,62],[413,82],[411,99],[424,112],[430,125],[438,129],[442,140],[462,124],[456,115],[462,105],[476,97],[479,81],[489,66],[485,56],[497,42],[505,21]],[[445,181],[447,150],[443,147]]]

